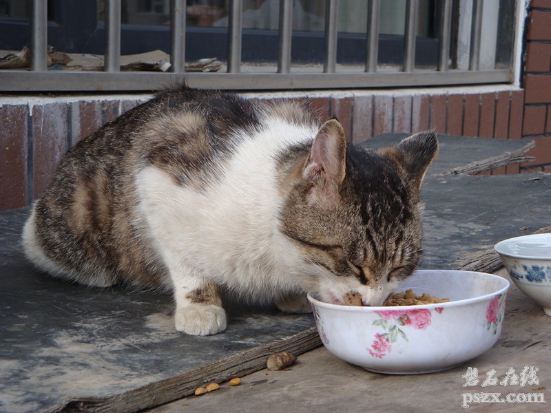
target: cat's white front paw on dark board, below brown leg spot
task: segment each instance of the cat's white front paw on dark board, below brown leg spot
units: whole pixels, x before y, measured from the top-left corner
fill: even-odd
[[[191,304],[176,308],[174,324],[176,330],[189,335],[212,335],[226,329],[226,312],[211,304]]]

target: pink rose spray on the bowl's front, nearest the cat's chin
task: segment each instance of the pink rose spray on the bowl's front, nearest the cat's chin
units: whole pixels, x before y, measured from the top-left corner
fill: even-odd
[[[435,308],[438,314],[444,310],[443,307]],[[400,327],[413,327],[417,330],[424,330],[430,326],[432,313],[426,308],[412,308],[406,310],[380,310],[375,311],[380,316],[380,319],[373,321],[373,326],[381,326],[383,333],[376,333],[375,340],[368,348],[371,357],[382,359],[386,354],[391,352],[392,343],[395,343],[400,337],[408,341],[408,337],[404,330]]]

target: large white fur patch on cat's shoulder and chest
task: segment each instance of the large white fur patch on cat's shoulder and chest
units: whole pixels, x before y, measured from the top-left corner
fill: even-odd
[[[237,136],[237,152],[202,190],[180,187],[156,167],[136,177],[141,215],[169,268],[177,304],[178,291],[194,288],[197,277],[254,301],[303,287],[291,274],[306,264],[278,231],[275,156],[291,143],[311,140],[315,131],[266,121],[256,136]]]

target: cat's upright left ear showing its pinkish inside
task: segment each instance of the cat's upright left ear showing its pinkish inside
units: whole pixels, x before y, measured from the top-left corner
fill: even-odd
[[[338,187],[346,173],[346,136],[336,119],[328,120],[315,136],[302,172],[309,187],[306,198],[335,202]]]

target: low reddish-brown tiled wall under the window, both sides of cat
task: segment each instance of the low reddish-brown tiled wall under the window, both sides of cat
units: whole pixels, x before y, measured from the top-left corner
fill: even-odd
[[[441,134],[519,139],[526,100],[522,89],[506,87],[249,95],[298,99],[322,118],[337,116],[354,143],[385,132],[430,128]],[[0,210],[30,204],[48,187],[67,149],[146,99],[0,98]],[[507,172],[518,171],[516,167]]]

